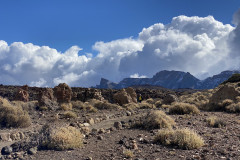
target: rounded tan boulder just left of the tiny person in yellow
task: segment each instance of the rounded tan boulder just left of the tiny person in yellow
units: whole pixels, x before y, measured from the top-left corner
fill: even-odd
[[[137,94],[133,88],[121,89],[113,95],[113,100],[119,105],[137,103]]]

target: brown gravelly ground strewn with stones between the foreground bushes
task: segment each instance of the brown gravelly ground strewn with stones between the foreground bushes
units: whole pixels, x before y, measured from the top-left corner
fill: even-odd
[[[160,91],[157,93],[160,93]],[[192,97],[194,92],[189,91],[183,95]],[[159,98],[161,96],[164,98],[162,94],[156,97]],[[178,95],[178,99],[183,101],[183,99],[186,98],[181,99]],[[65,111],[40,111],[37,101],[25,103],[28,103],[28,105],[24,105],[25,107],[23,108],[27,110],[30,115],[31,125],[27,128],[1,128],[0,148],[2,148],[2,159],[240,159],[240,115],[238,112],[228,113],[225,111],[201,110],[199,114],[169,115],[168,107],[142,107],[132,109],[122,107],[98,109],[96,112],[76,110],[73,108],[72,111],[77,114],[77,117],[64,118],[63,114]],[[203,138],[204,145],[192,150],[184,150],[171,145],[166,146],[154,141],[159,129],[146,130],[133,127],[133,124],[140,117],[146,116],[146,113],[152,110],[162,110],[172,117],[176,122],[173,129],[190,128],[194,130]],[[207,119],[213,116],[220,119],[223,125],[217,127],[210,126]],[[84,135],[83,146],[81,148],[57,151],[40,149],[38,148],[38,142],[34,144],[34,140],[37,141],[35,137],[38,137],[43,126],[61,126],[63,124],[81,130]],[[20,147],[18,147],[19,150],[12,151],[14,147],[12,147],[11,144],[16,145],[16,142],[21,144],[19,145]],[[25,147],[27,149],[24,149],[24,142],[28,143],[27,145],[30,147]],[[29,144],[29,142],[31,142],[31,144]]]

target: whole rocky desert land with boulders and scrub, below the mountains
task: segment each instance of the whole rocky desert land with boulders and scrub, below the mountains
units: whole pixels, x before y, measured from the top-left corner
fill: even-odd
[[[137,102],[139,94],[143,96],[142,103]],[[53,89],[2,85],[0,96],[1,159],[240,159],[238,82],[202,91],[137,86],[100,90],[70,88],[66,84]],[[9,114],[11,106],[22,108],[16,116],[29,115],[29,125],[25,119],[24,123],[20,123],[23,119],[12,123],[16,117],[12,116],[13,111]],[[158,116],[163,119],[155,121],[150,113],[157,111],[162,111]],[[165,114],[174,121],[170,127],[165,125],[169,123]],[[12,118],[7,121],[9,115]],[[74,128],[72,132],[76,129],[82,137],[74,139],[78,135],[67,131],[47,132],[61,127]],[[183,128],[194,131],[204,143],[183,148],[181,144],[156,141],[159,131]],[[54,134],[60,135],[58,139],[53,138]],[[81,145],[71,146],[79,139]]]

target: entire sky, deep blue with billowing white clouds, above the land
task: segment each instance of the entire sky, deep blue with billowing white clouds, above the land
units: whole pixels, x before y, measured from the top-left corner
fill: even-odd
[[[239,69],[239,0],[0,0],[0,83]]]

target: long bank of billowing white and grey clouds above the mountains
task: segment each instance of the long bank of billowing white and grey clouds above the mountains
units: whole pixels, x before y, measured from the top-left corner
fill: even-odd
[[[239,69],[240,10],[233,27],[208,17],[174,17],[144,28],[137,38],[96,42],[96,56],[73,46],[64,53],[47,46],[0,41],[0,83],[89,87],[101,77],[151,77],[161,70],[188,71],[198,78]],[[141,75],[141,76],[139,76]]]

